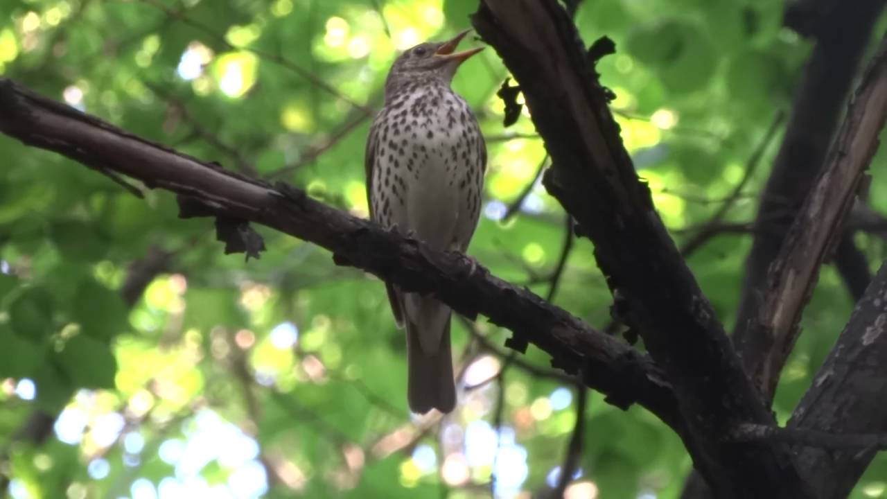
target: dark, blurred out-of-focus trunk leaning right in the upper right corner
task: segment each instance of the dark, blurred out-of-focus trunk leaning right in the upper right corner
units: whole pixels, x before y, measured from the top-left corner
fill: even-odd
[[[734,326],[734,343],[749,372],[765,355],[760,350],[764,344],[749,338],[748,329],[751,321],[757,320],[758,310],[764,303],[767,271],[779,255],[788,228],[825,163],[844,101],[884,0],[860,0],[836,10],[833,0],[799,0],[792,4],[789,11],[802,8],[805,12],[820,12],[816,19],[825,19],[820,18],[823,12],[834,12],[828,15],[824,27],[817,24],[817,28],[811,30],[815,33],[816,45],[799,83],[785,138],[761,194],[756,236],[746,262]],[[786,23],[795,26],[791,22],[787,17]]]

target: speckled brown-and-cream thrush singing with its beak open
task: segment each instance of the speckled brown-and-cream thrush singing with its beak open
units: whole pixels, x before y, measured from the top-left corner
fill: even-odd
[[[459,66],[483,50],[456,51],[470,31],[418,44],[395,59],[365,151],[370,218],[432,248],[463,254],[480,216],[487,160],[477,119],[451,88]],[[410,410],[451,412],[450,307],[388,282],[386,290],[397,326],[406,329]]]

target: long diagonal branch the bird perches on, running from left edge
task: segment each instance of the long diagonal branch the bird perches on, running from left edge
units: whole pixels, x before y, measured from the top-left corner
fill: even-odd
[[[106,168],[147,186],[196,199],[226,217],[251,220],[315,242],[350,265],[434,293],[467,317],[487,315],[514,331],[514,344],[532,343],[619,407],[638,402],[681,432],[676,401],[651,360],[525,289],[492,276],[458,253],[381,229],[310,199],[292,187],[275,188],[167,147],[137,138],[90,115],[0,78],[0,131],[27,145]]]

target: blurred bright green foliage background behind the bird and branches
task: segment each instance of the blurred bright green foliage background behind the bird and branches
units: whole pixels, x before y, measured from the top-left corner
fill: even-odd
[[[0,73],[133,133],[366,215],[369,115],[396,51],[466,28],[469,0],[4,0]],[[584,0],[577,25],[617,52],[600,61],[625,146],[680,243],[749,168],[726,222],[752,218],[779,137],[767,134],[810,47],[770,0]],[[473,42],[476,43],[476,42]],[[470,253],[545,295],[563,214],[541,186],[503,222],[546,153],[526,110],[504,129],[495,51],[454,87],[490,150],[486,209]],[[509,139],[518,136],[517,139]],[[773,139],[771,142],[765,142]],[[206,220],[174,197],[137,200],[55,154],[0,137],[0,434],[13,497],[437,497],[544,493],[576,411],[570,387],[483,352],[454,321],[459,408],[439,423],[406,408],[404,339],[381,283],[326,251],[259,227],[260,260],[224,256]],[[875,161],[874,171],[883,167]],[[875,175],[875,208],[887,180]],[[883,246],[860,235],[879,262]],[[729,327],[749,234],[718,234],[689,258]],[[161,261],[134,304],[133,262]],[[141,270],[139,270],[141,269]],[[655,283],[651,283],[655,285]],[[131,298],[130,298],[131,299]],[[555,303],[602,327],[610,297],[587,241]],[[852,308],[827,268],[775,410],[790,413]],[[501,345],[507,332],[480,321]],[[530,348],[522,360],[547,367]],[[484,383],[484,381],[489,381]],[[497,400],[504,406],[497,410]],[[36,395],[35,395],[36,394]],[[42,444],[35,411],[59,416]],[[594,394],[571,497],[676,497],[680,440],[640,408]],[[495,424],[500,423],[501,432]],[[498,435],[498,437],[497,437]],[[33,437],[33,435],[30,435]],[[878,459],[856,496],[884,491]]]

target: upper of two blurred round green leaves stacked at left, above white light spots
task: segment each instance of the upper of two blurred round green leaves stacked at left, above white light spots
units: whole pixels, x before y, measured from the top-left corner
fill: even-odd
[[[105,342],[129,327],[127,306],[120,293],[92,279],[78,286],[71,316],[84,334]]]

